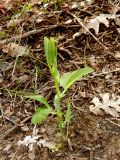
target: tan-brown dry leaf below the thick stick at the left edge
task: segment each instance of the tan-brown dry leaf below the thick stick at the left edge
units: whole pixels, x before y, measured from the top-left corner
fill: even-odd
[[[20,46],[16,43],[9,43],[2,46],[2,51],[8,53],[12,57],[19,57],[29,53],[27,47]]]

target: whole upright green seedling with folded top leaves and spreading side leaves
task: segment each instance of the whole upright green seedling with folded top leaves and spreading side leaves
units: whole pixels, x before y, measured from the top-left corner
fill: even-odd
[[[54,38],[44,38],[44,50],[47,65],[49,67],[56,88],[56,95],[54,97],[55,110],[52,109],[52,107],[48,104],[47,100],[41,95],[26,96],[27,98],[34,99],[43,104],[43,107],[36,108],[35,114],[32,117],[32,123],[40,124],[48,117],[49,114],[57,115],[60,134],[63,135],[63,128],[67,126],[68,136],[68,128],[72,115],[71,103],[70,101],[68,102],[67,111],[63,113],[61,108],[61,99],[65,96],[66,91],[75,81],[79,80],[84,75],[93,72],[93,69],[86,66],[73,72],[68,72],[60,75],[57,68],[57,48],[55,46]],[[60,87],[62,87],[63,89],[61,89]]]

